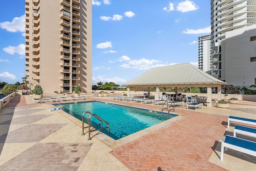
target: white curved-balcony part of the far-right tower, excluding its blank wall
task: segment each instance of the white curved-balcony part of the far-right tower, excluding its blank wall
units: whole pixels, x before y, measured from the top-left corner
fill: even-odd
[[[256,24],[255,0],[211,0],[212,74],[225,81],[226,32]],[[239,42],[236,42],[239,43]],[[222,65],[222,66],[221,66]]]

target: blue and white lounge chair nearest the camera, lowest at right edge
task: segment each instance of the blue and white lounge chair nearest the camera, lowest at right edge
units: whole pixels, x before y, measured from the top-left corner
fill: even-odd
[[[220,160],[223,160],[224,147],[225,151],[228,151],[228,148],[230,148],[242,153],[256,156],[256,142],[254,141],[226,135],[225,141],[221,143]]]

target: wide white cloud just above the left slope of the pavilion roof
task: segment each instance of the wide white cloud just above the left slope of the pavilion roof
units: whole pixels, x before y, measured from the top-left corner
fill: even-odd
[[[152,65],[156,62],[161,62],[161,61],[147,60],[145,58],[142,58],[140,60],[129,60],[128,63],[122,64],[120,66],[123,67],[123,68],[135,68],[135,69],[139,69],[139,70],[144,70],[144,69],[141,69],[141,68],[147,67],[147,66]]]

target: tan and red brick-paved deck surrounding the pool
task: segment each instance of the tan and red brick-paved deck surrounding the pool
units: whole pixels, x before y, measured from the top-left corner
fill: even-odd
[[[152,110],[161,110],[162,106],[110,100],[109,96],[88,95],[88,100]],[[120,141],[102,134],[88,141],[88,134],[81,135],[81,121],[63,111],[49,111],[52,103],[33,104],[31,96],[17,95],[0,110],[0,170],[248,171],[256,168],[256,157],[230,149],[220,161],[221,141],[225,135],[232,135],[234,129],[234,123],[227,128],[228,116],[256,119],[256,102],[239,101],[228,109],[204,106],[197,111],[180,105],[172,112],[178,117]]]

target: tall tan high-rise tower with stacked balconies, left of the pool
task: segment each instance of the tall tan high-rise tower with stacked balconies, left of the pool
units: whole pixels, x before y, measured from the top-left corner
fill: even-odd
[[[25,0],[26,84],[92,89],[92,0]]]

